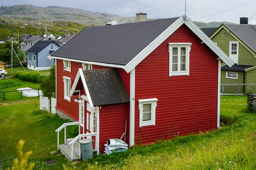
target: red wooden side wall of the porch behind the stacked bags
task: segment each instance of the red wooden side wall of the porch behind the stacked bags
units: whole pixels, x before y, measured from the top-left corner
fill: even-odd
[[[100,152],[104,151],[104,144],[108,139],[120,138],[125,132],[125,142],[129,144],[129,103],[101,106],[100,109]],[[124,138],[123,138],[124,140]]]

